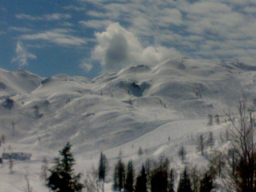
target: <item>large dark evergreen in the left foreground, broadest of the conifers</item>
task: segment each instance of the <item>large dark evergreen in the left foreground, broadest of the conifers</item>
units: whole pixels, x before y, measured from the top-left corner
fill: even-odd
[[[81,174],[74,174],[72,168],[75,164],[74,157],[70,152],[71,144],[67,142],[63,150],[59,151],[59,157],[55,159],[55,166],[49,170],[51,175],[48,177],[47,186],[55,192],[80,192],[84,187],[79,182]]]

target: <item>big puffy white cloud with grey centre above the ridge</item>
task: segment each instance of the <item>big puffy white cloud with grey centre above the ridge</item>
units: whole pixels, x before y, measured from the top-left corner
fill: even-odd
[[[120,70],[129,65],[156,65],[169,57],[182,54],[175,48],[165,46],[143,47],[135,35],[113,23],[106,31],[95,33],[97,45],[92,52],[92,59],[100,61],[105,70]]]

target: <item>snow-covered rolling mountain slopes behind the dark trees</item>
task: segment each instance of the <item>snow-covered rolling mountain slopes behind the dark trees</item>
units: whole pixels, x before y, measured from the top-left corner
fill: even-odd
[[[24,191],[26,170],[33,191],[48,191],[40,179],[41,161],[46,156],[52,162],[67,141],[73,145],[76,172],[84,175],[97,166],[100,151],[106,154],[109,192],[120,151],[136,170],[148,157],[157,160],[163,154],[177,173],[188,163],[206,167],[208,156],[226,145],[219,137],[226,130],[223,111],[235,111],[242,92],[253,105],[254,76],[256,70],[245,64],[185,58],[153,68],[127,67],[95,79],[65,74],[42,78],[0,69],[0,135],[6,136],[0,150],[32,153],[29,161],[14,161],[12,174],[4,160],[0,191]],[[6,103],[7,98],[13,103]],[[207,126],[208,114],[219,114],[222,123]],[[215,146],[202,156],[196,150],[197,136],[210,131]],[[147,151],[142,156],[137,155],[139,146]],[[180,146],[187,150],[184,163],[177,155]]]

